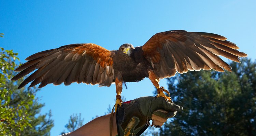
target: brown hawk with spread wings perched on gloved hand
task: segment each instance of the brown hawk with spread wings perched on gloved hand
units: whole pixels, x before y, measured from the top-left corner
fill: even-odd
[[[108,87],[115,83],[116,106],[121,106],[123,83],[149,78],[158,91],[157,97],[171,101],[170,96],[163,93],[168,91],[159,86],[160,79],[188,70],[224,72],[225,69],[231,72],[231,67],[218,56],[235,62],[247,56],[226,39],[213,33],[172,30],[155,34],[143,46],[123,44],[113,51],[96,44],[66,45],[27,57],[28,62],[15,69],[21,72],[12,80],[37,69],[18,88],[31,81],[29,87],[40,83],[39,88],[63,82],[65,85],[77,82]]]

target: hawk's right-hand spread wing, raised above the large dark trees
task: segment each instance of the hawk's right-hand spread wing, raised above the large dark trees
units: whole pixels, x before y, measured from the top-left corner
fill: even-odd
[[[174,30],[157,33],[142,46],[144,56],[151,62],[158,78],[167,78],[188,70],[231,71],[231,67],[218,56],[239,62],[246,57],[227,38],[202,32]]]

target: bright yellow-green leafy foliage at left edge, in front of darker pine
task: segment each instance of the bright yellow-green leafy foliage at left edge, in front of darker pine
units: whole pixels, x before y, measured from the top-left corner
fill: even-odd
[[[11,86],[10,79],[16,66],[15,60],[18,59],[17,53],[13,53],[12,50],[0,49],[0,134],[12,135],[12,132],[16,132],[16,135],[19,135],[24,128],[31,127],[30,113],[26,111],[32,105],[34,96],[28,94],[29,101],[21,100],[18,103],[13,101],[16,100],[16,95],[13,94],[14,88]]]

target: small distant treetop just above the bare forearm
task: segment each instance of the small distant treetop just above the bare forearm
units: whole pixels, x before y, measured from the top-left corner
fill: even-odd
[[[81,113],[79,113],[79,116],[77,114],[73,114],[70,116],[68,124],[65,125],[65,128],[67,129],[67,132],[72,132],[77,129],[79,129],[81,126],[83,126],[84,118],[81,119]],[[60,135],[67,133],[65,130],[60,133]]]

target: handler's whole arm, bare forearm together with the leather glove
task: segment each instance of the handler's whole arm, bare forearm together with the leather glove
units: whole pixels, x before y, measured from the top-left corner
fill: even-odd
[[[181,106],[162,97],[148,96],[123,102],[122,107],[117,107],[117,113],[113,113],[112,136],[139,136],[149,126],[149,120],[153,120],[151,126],[160,128],[168,118],[174,117],[177,111],[182,109]],[[111,114],[98,117],[81,128],[61,136],[109,136],[110,117]]]

